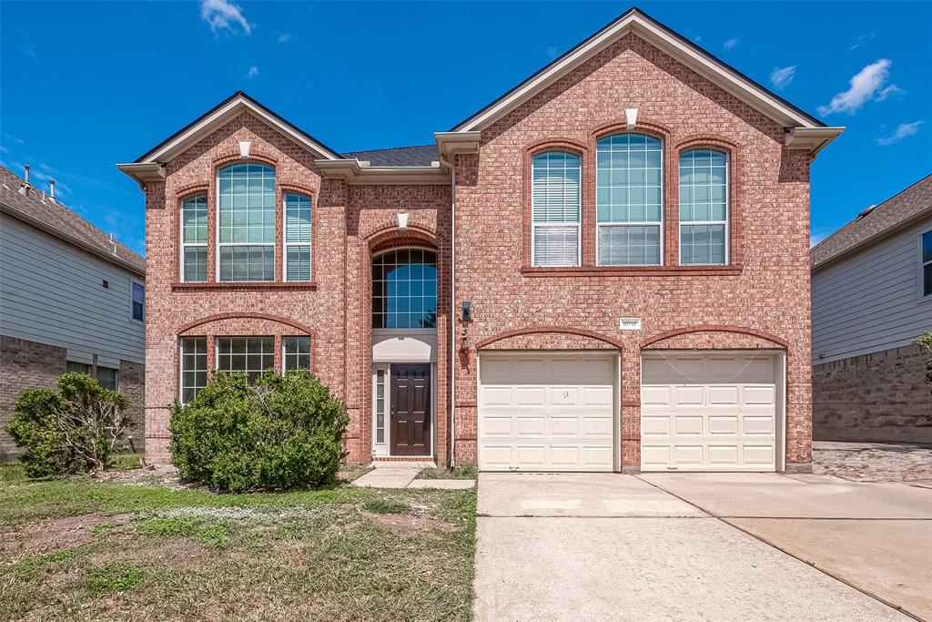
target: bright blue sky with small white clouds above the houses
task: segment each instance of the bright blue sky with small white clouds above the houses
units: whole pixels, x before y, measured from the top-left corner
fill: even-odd
[[[432,143],[621,3],[3,2],[0,159],[139,252],[115,168],[246,90],[339,151]],[[932,3],[638,5],[829,125],[820,239],[932,171]]]

